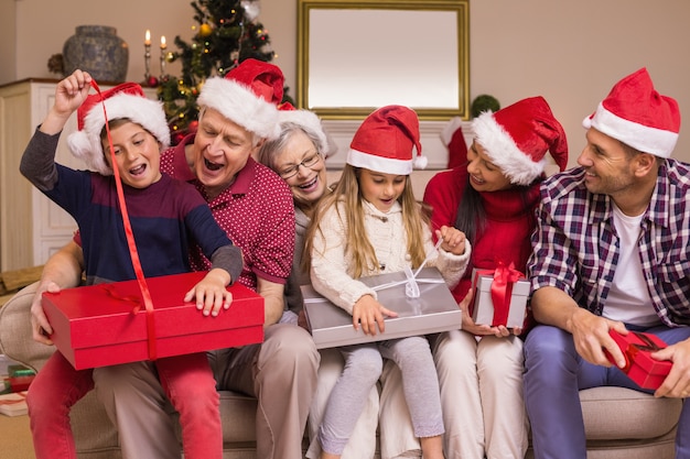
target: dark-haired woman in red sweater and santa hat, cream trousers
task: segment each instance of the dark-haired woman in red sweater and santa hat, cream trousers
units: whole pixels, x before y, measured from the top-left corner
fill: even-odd
[[[545,155],[549,151],[561,171],[568,163],[563,128],[541,97],[482,113],[472,128],[466,164],[436,174],[427,185],[432,226],[453,225],[465,232],[473,245],[471,267],[514,263],[524,273]],[[471,276],[468,267],[453,289],[457,300],[472,288]],[[446,457],[525,457],[522,330],[476,325],[464,303],[460,306],[462,330],[441,334],[434,342]]]

